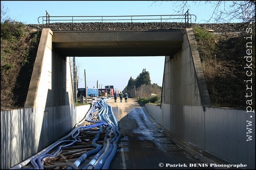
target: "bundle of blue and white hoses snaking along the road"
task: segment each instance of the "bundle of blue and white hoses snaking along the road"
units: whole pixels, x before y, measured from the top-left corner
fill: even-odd
[[[92,108],[89,110],[85,120],[90,122],[89,126],[75,127],[67,136],[57,140],[57,142],[41,150],[41,152],[32,156],[24,162],[13,166],[10,169],[58,169],[59,167],[66,167],[65,169],[78,169],[78,166],[85,161],[88,156],[95,155],[91,161],[82,169],[108,169],[111,161],[117,152],[117,143],[121,139],[121,131],[114,117],[113,110],[105,101],[109,98],[101,98],[92,103]],[[75,162],[62,162],[56,164],[47,164],[48,159],[59,158],[65,159],[62,149],[72,147],[75,143],[82,143],[79,134],[82,130],[91,130],[98,128],[94,139],[91,140],[91,147],[82,149],[84,153],[80,154]],[[98,144],[100,134],[104,135],[103,145]],[[80,149],[81,150],[81,149]],[[30,166],[26,166],[30,163]],[[46,165],[45,165],[46,164]],[[81,168],[80,168],[81,169]]]

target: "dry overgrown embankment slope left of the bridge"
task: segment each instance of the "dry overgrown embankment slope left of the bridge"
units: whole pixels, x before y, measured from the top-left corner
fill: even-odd
[[[40,31],[1,22],[1,110],[24,107],[39,40]]]

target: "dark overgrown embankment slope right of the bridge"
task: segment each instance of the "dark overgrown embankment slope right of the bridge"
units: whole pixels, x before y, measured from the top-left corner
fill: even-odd
[[[252,33],[246,31],[231,33],[210,33],[194,27],[204,78],[211,104],[215,107],[245,109],[247,107],[246,67],[247,42],[244,37],[255,40],[255,27]],[[255,43],[252,44],[252,89],[255,89]],[[255,97],[255,90],[252,91]],[[252,101],[255,108],[255,98]]]

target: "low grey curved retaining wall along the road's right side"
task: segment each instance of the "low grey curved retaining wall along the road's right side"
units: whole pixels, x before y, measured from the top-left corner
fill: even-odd
[[[255,114],[251,118],[247,111],[210,107],[204,112],[199,106],[188,105],[145,107],[162,127],[197,152],[255,169]]]

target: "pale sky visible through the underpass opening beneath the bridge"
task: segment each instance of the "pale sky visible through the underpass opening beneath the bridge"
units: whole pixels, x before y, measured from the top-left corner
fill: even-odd
[[[84,70],[88,88],[96,88],[98,81],[98,88],[114,85],[116,91],[123,91],[130,77],[136,79],[143,69],[149,72],[151,84],[162,86],[164,56],[75,57],[75,60],[76,66],[83,68],[78,78],[78,86],[81,88],[85,84]]]

